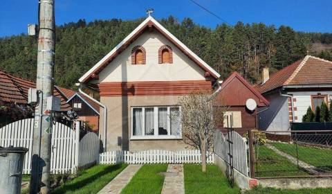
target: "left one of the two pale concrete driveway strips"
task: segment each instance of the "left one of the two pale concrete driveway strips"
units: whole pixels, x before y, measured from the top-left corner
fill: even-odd
[[[102,190],[98,192],[98,194],[118,194],[121,193],[122,188],[126,186],[133,175],[140,169],[142,165],[140,164],[131,164],[124,168],[121,173],[118,174],[109,184],[104,186]]]

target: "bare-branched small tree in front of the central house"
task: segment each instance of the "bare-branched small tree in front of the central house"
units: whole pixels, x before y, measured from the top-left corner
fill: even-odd
[[[223,121],[225,107],[219,101],[214,99],[211,91],[199,91],[183,96],[178,102],[181,116],[177,118],[181,123],[183,142],[201,150],[203,172],[206,171],[206,153],[212,151],[214,132]]]

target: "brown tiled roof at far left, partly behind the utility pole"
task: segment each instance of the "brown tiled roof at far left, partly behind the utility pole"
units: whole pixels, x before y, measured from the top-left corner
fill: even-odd
[[[3,102],[26,104],[28,103],[28,89],[35,87],[36,84],[33,81],[18,78],[0,70],[0,100]],[[62,111],[71,109],[71,105],[66,103],[56,89],[53,90],[53,95],[60,98]]]

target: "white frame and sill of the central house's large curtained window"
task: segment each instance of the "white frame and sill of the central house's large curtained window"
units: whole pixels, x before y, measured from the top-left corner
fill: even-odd
[[[167,107],[167,135],[162,134],[158,135],[159,128],[159,119],[158,119],[158,108]],[[182,139],[182,130],[180,124],[180,136],[171,135],[171,125],[170,125],[170,112],[172,107],[178,106],[146,106],[146,107],[131,107],[131,116],[130,116],[130,139],[131,140],[142,140],[142,139]],[[141,108],[142,109],[142,135],[133,135],[133,109]],[[154,108],[154,135],[145,135],[145,108]],[[178,107],[179,112],[181,113],[181,107]],[[180,114],[181,115],[181,114]]]

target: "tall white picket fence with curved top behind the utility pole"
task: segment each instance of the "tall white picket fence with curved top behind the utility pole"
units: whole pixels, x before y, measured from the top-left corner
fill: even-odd
[[[24,158],[23,174],[30,174],[31,151],[33,147],[33,118],[26,118],[15,121],[0,128],[0,146],[28,148]],[[95,139],[86,138],[84,143],[80,142],[80,122],[77,122],[76,129],[55,123],[51,139],[50,171],[53,174],[75,173],[78,166],[84,166],[92,162],[91,157],[98,161],[99,141],[95,145]],[[98,137],[97,137],[98,138]],[[84,138],[83,138],[84,139]],[[82,145],[81,149],[80,144]],[[84,146],[83,146],[84,145]],[[90,146],[87,146],[90,145]],[[98,149],[96,148],[98,146]],[[81,155],[79,154],[81,152]],[[84,152],[84,154],[82,154]],[[79,164],[80,161],[80,164]]]

